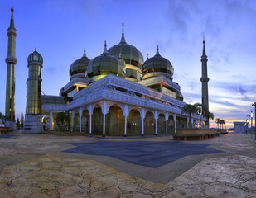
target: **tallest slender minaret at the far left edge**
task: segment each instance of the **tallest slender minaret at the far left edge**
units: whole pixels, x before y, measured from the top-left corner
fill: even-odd
[[[7,117],[7,126],[15,129],[15,64],[16,59],[16,29],[13,20],[13,7],[11,8],[12,16],[10,27],[8,28],[8,52],[5,62],[7,63],[7,88],[5,101],[5,116]]]

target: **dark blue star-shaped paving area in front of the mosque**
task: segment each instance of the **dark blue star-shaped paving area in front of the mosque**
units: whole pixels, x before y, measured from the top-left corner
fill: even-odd
[[[76,147],[65,150],[65,152],[110,156],[147,167],[161,167],[187,155],[222,152],[207,148],[210,144],[187,144],[178,141],[97,141],[94,143],[72,143],[72,145]]]

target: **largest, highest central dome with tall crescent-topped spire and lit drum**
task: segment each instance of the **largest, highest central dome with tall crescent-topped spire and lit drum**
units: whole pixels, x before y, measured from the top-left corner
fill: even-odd
[[[126,78],[132,81],[139,81],[142,78],[142,65],[144,59],[142,53],[133,45],[128,45],[122,33],[121,41],[118,45],[109,48],[109,54],[115,58],[125,61]]]

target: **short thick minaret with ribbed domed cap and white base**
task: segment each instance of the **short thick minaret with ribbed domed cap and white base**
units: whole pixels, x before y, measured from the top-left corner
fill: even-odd
[[[43,58],[36,49],[27,57],[27,106],[24,133],[41,133],[41,68]]]

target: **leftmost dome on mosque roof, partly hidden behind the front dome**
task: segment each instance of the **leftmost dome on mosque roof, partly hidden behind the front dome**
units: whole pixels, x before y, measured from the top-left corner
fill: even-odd
[[[75,60],[75,62],[70,65],[70,78],[72,78],[77,73],[81,73],[82,77],[85,77],[84,73],[88,64],[89,59],[87,58],[84,50],[84,54],[81,57],[81,59]]]

